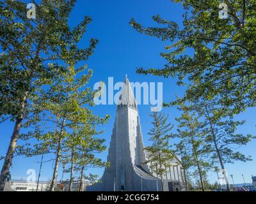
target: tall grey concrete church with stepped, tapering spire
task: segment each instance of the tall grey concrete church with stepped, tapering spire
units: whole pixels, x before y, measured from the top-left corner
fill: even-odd
[[[104,170],[101,182],[88,186],[86,191],[182,191],[184,171],[176,156],[166,168],[164,189],[161,179],[145,164],[147,152],[143,144],[138,106],[125,77],[124,87],[116,107],[115,124],[108,151],[110,166]]]

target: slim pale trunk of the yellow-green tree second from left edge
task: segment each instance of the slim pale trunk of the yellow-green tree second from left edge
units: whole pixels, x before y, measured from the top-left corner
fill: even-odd
[[[56,160],[55,160],[55,164],[54,164],[54,171],[53,171],[53,175],[52,175],[52,182],[51,182],[50,191],[54,191],[54,187],[55,187],[56,180],[57,180],[57,173],[58,173],[58,166],[59,166],[59,161],[60,161],[61,142],[62,142],[62,138],[63,138],[64,125],[65,125],[65,119],[63,119],[63,122],[61,124],[61,132],[60,132],[60,137],[59,137],[59,140],[58,140]]]

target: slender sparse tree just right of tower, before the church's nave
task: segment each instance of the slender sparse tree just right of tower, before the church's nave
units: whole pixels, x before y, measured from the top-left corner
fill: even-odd
[[[148,153],[148,159],[145,163],[150,163],[150,169],[161,178],[162,190],[164,191],[163,175],[166,168],[170,167],[170,161],[173,159],[173,152],[170,150],[169,139],[172,134],[170,131],[173,126],[168,123],[168,116],[154,112],[154,121],[151,122],[153,128],[150,129],[150,141],[152,145],[145,148]]]

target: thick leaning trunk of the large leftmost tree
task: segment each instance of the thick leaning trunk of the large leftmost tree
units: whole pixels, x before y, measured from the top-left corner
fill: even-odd
[[[22,99],[20,115],[17,117],[17,119],[15,121],[15,126],[13,128],[11,141],[10,141],[6,156],[4,158],[4,164],[3,164],[3,167],[1,170],[1,175],[0,175],[0,191],[4,191],[4,186],[7,182],[7,177],[10,173],[10,167],[12,166],[12,159],[13,159],[13,155],[15,153],[16,143],[19,138],[19,132],[20,132],[22,120],[24,117],[23,114],[24,114],[24,109],[25,109],[25,105],[26,105],[27,95],[28,95],[28,93],[26,93],[24,98]]]

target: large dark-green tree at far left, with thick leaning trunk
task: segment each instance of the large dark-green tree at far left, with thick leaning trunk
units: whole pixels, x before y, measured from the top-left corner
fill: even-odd
[[[22,122],[29,114],[29,105],[45,84],[65,73],[67,61],[83,61],[92,54],[97,40],[91,40],[86,49],[77,43],[85,33],[90,17],[74,27],[68,26],[68,17],[75,0],[42,0],[36,6],[36,19],[26,17],[27,4],[5,0],[0,3],[0,122],[15,122],[10,145],[0,176],[3,191],[10,173],[12,158]],[[40,97],[40,96],[39,96]]]

